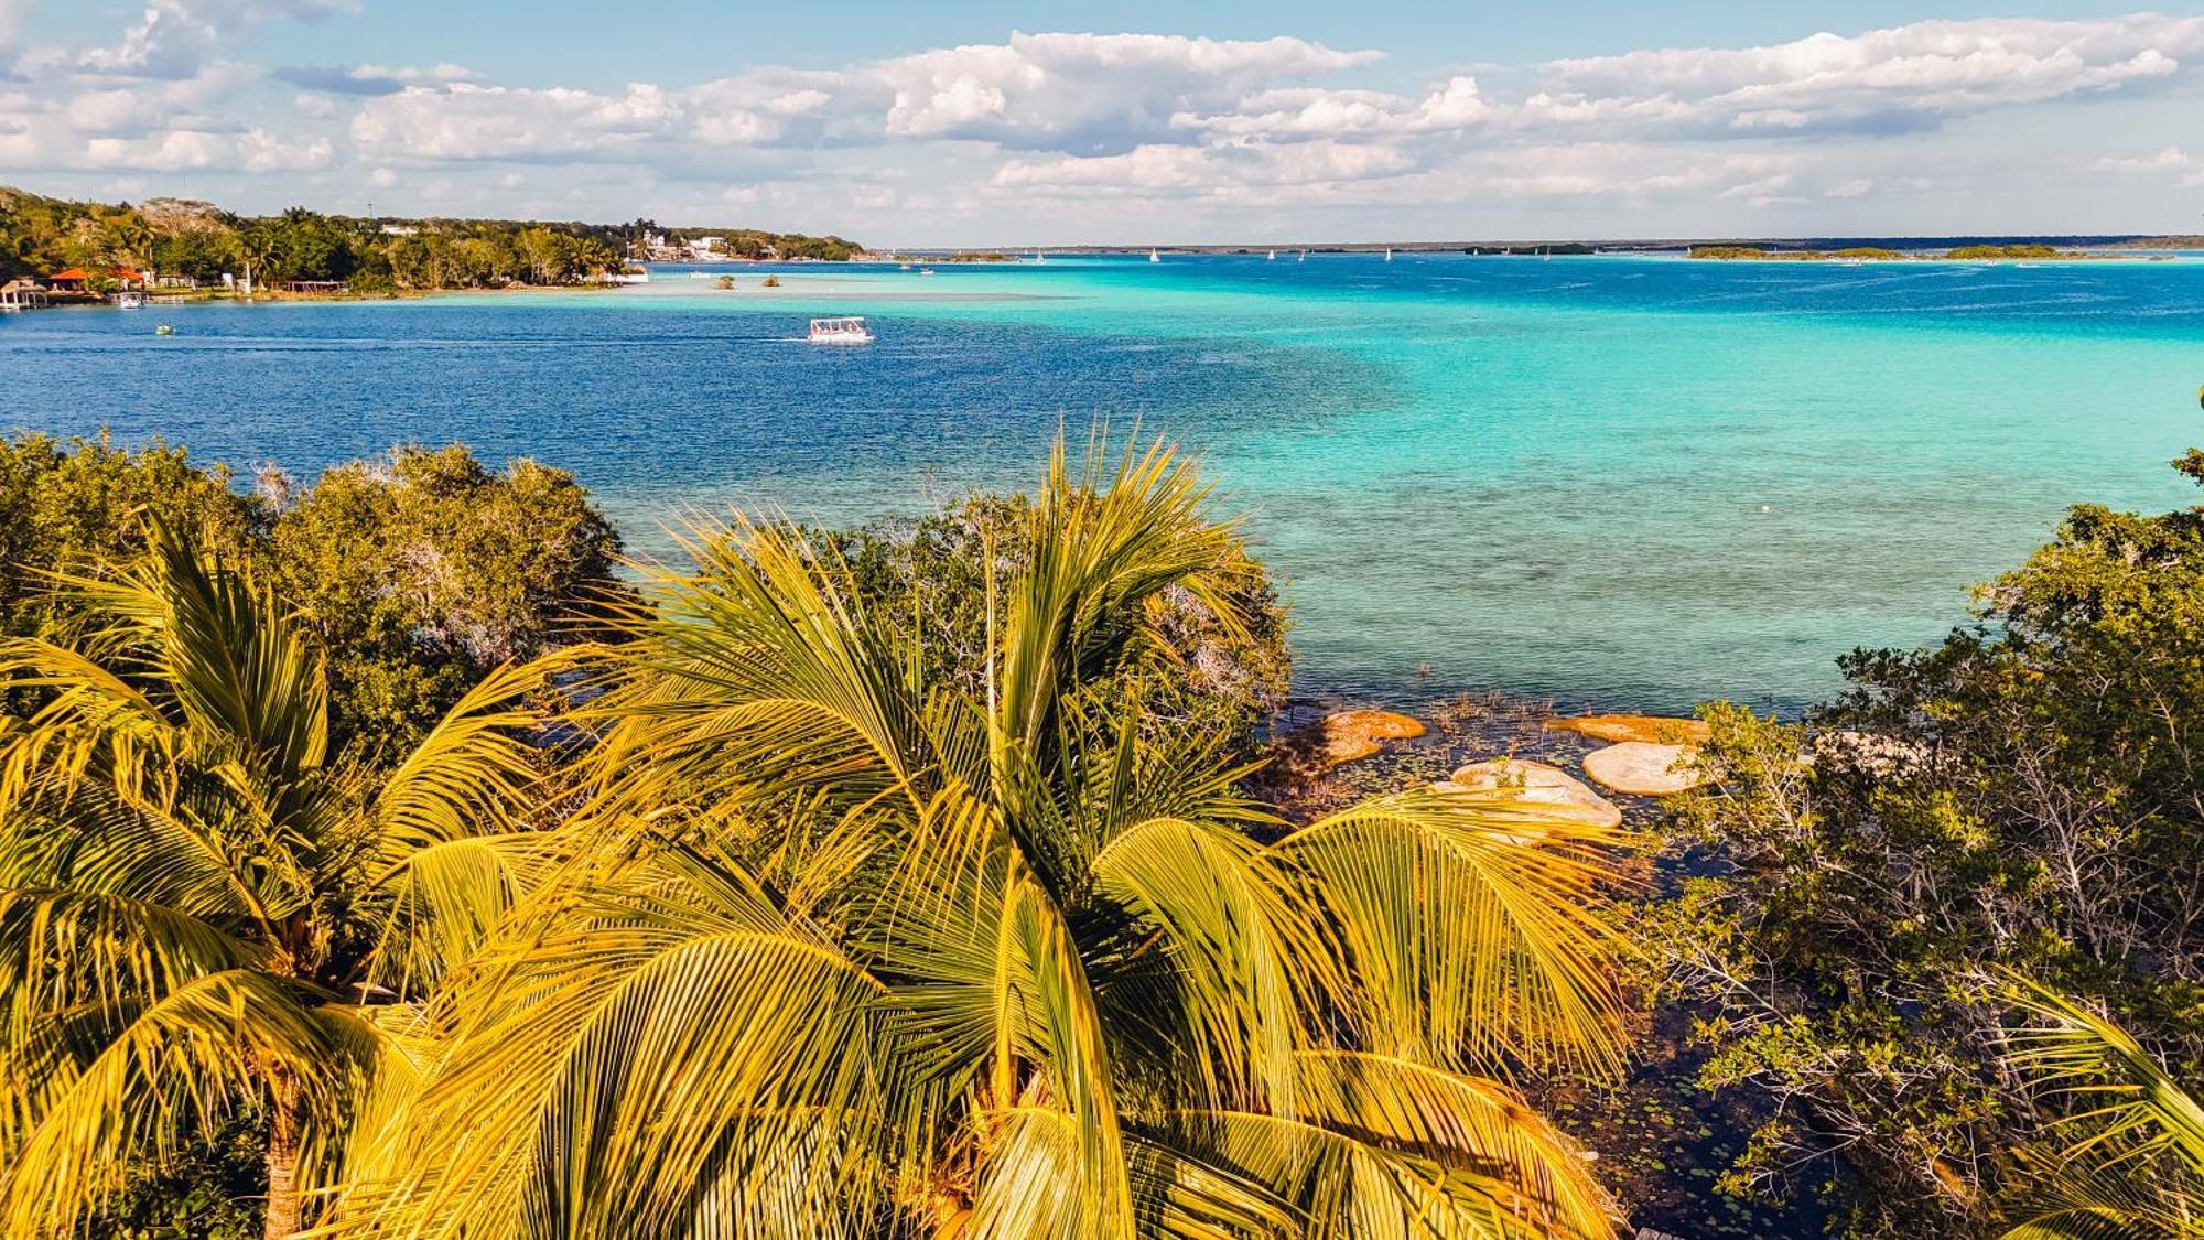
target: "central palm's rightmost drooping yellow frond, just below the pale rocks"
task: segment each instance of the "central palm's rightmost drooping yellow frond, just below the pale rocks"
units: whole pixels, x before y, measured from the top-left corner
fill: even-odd
[[[1338,924],[1366,1046],[1446,1066],[1613,1072],[1607,916],[1627,836],[1508,790],[1375,797],[1278,841]]]

